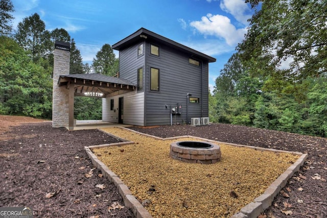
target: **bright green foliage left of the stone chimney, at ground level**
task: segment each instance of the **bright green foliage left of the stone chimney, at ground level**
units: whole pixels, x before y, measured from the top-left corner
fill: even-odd
[[[52,68],[44,69],[34,63],[8,37],[0,37],[0,63],[0,111],[3,114],[51,118]]]

